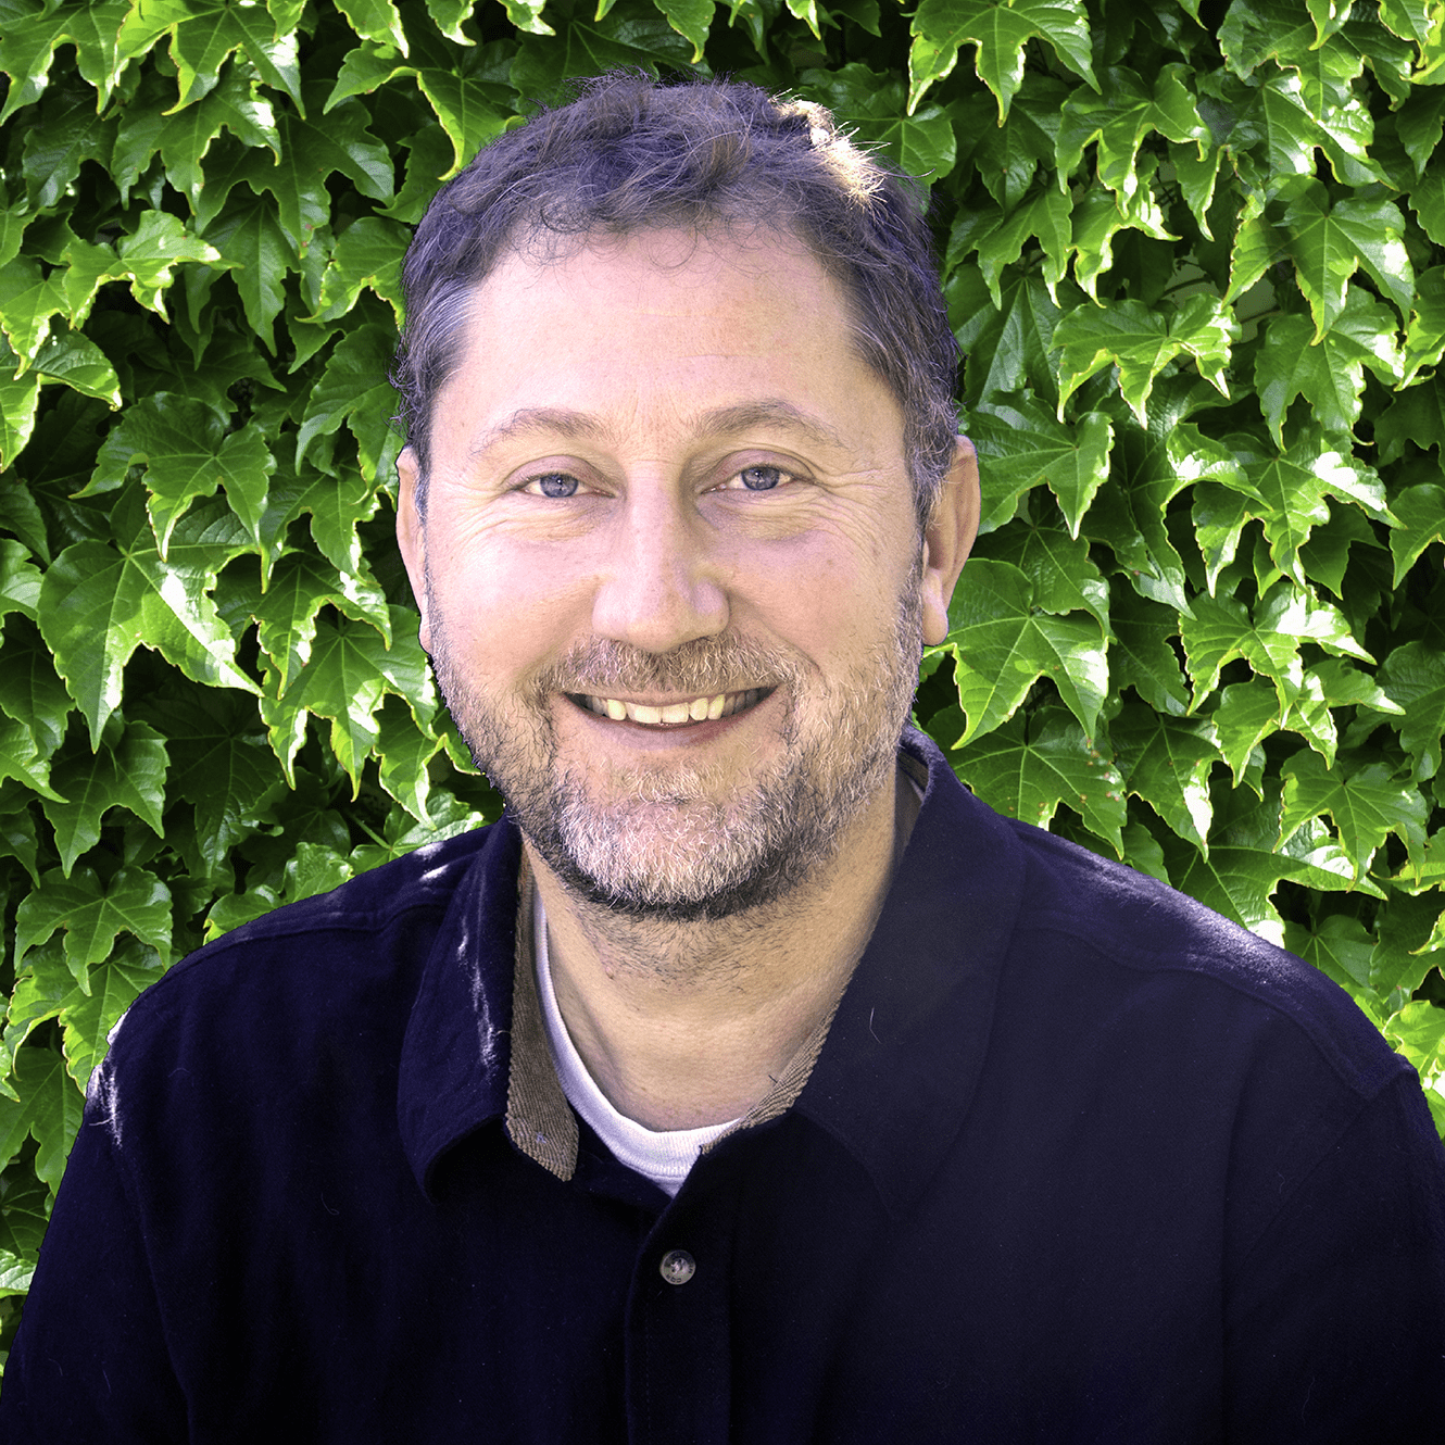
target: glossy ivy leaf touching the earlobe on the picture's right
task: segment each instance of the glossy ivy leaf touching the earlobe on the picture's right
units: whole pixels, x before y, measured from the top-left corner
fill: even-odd
[[[1094,734],[1108,691],[1097,621],[1038,611],[1029,578],[987,558],[965,568],[948,621],[958,702],[968,718],[962,743],[1013,717],[1042,676],[1052,679],[1084,731]]]

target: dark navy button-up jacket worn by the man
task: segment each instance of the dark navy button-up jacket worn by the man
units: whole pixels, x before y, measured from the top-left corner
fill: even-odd
[[[1413,1071],[1308,965],[907,750],[801,1097],[670,1204],[585,1126],[569,1179],[509,1137],[507,821],[173,968],[92,1081],[0,1436],[1438,1445]]]

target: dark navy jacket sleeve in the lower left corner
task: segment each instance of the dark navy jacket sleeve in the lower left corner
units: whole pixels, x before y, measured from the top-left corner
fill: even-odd
[[[101,1101],[87,1103],[0,1387],[0,1441],[185,1441],[143,1231]]]

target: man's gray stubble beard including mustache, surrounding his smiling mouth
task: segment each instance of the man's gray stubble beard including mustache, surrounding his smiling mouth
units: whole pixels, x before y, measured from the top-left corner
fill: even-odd
[[[801,656],[727,634],[662,656],[594,640],[548,668],[527,695],[484,702],[457,668],[428,591],[432,665],[473,760],[562,884],[613,913],[682,923],[776,903],[835,855],[847,825],[892,783],[918,682],[916,571],[899,600],[893,646],[880,644],[811,705]],[[783,747],[741,790],[720,789],[709,769],[639,767],[614,770],[604,801],[559,763],[549,711],[558,692],[597,694],[610,683],[715,695],[720,681],[749,686],[759,678],[783,692]],[[801,715],[805,708],[811,715]]]

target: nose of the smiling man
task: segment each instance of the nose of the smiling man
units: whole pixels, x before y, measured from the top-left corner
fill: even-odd
[[[717,539],[676,487],[629,487],[607,540],[592,600],[597,636],[665,653],[727,627]]]

